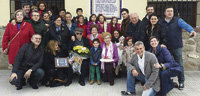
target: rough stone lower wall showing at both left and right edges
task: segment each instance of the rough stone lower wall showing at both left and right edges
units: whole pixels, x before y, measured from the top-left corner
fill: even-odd
[[[183,31],[183,63],[185,70],[197,71],[200,70],[200,29],[195,29],[197,37],[190,38],[186,31]],[[2,47],[2,38],[5,31],[5,26],[0,26],[0,50]],[[0,69],[5,69],[8,66],[7,56],[0,52]]]

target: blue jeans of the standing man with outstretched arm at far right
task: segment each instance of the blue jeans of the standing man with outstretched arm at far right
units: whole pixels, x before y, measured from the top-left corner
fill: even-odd
[[[185,76],[184,76],[184,67],[183,67],[183,59],[182,59],[182,48],[170,49],[169,51],[172,54],[172,56],[174,57],[174,60],[178,64],[180,64],[180,66],[182,68],[182,72],[178,75],[178,82],[184,83]]]

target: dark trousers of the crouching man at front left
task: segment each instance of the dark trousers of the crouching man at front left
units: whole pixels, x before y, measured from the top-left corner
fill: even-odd
[[[27,70],[18,70],[16,73],[17,79],[14,78],[11,84],[14,84],[16,87],[22,86],[25,82],[24,74],[26,73],[26,71]],[[31,73],[31,76],[28,81],[31,85],[37,85],[38,82],[43,78],[43,76],[44,71],[41,68],[39,68]]]

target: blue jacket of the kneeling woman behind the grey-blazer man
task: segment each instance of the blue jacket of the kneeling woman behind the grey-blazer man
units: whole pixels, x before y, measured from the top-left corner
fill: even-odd
[[[153,53],[153,48],[150,48],[149,51]],[[156,48],[156,53],[154,54],[156,55],[158,62],[165,65],[166,70],[170,69],[176,70],[176,72],[181,72],[180,65],[175,62],[168,49],[162,48],[160,45],[158,45]]]

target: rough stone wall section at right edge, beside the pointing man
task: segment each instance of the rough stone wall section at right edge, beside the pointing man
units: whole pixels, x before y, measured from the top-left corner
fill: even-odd
[[[190,38],[189,34],[183,32],[183,64],[185,70],[200,70],[200,29],[195,29],[197,36]]]

